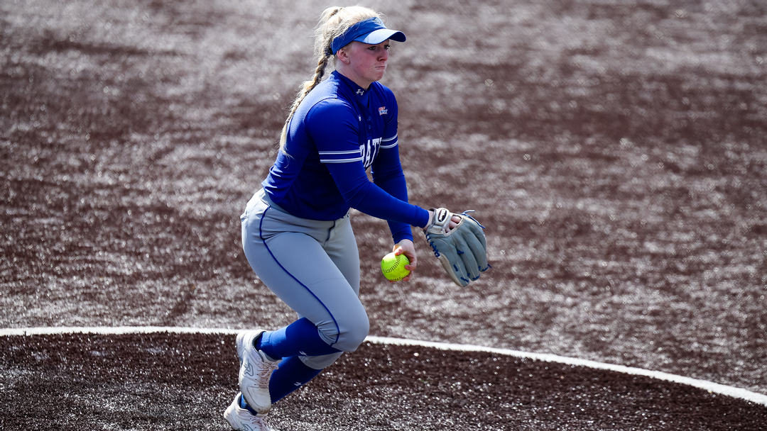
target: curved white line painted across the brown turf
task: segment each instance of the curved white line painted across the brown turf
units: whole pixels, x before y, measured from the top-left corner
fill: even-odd
[[[120,334],[150,334],[155,332],[172,332],[176,334],[237,334],[242,329],[226,328],[181,328],[181,327],[162,327],[162,326],[117,326],[117,327],[50,327],[50,328],[0,328],[0,336],[12,335],[54,335],[54,334],[102,334],[102,335],[120,335]],[[767,406],[767,395],[755,393],[750,390],[739,387],[727,386],[724,384],[713,383],[707,380],[693,379],[690,377],[668,374],[660,371],[644,370],[642,368],[624,367],[623,365],[604,364],[603,362],[588,361],[585,359],[568,358],[556,354],[529,353],[526,351],[515,351],[503,348],[487,348],[483,346],[467,344],[449,344],[437,343],[433,341],[406,340],[403,338],[387,338],[369,336],[366,341],[375,344],[394,344],[400,346],[420,346],[426,348],[436,348],[449,351],[475,351],[494,354],[502,354],[515,358],[532,359],[533,361],[555,362],[557,364],[578,365],[582,367],[594,368],[597,370],[616,371],[623,374],[637,376],[653,377],[660,380],[667,380],[673,383],[686,384],[707,390],[710,393],[719,393],[729,397],[736,397],[742,400],[758,403]]]

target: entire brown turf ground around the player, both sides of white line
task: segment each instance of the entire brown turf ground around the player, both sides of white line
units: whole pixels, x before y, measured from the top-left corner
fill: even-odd
[[[391,285],[377,269],[386,224],[355,212],[371,334],[767,393],[762,3],[367,3],[408,36],[384,83],[400,104],[411,201],[476,210],[493,266],[456,289],[420,242],[416,279]],[[0,327],[291,322],[242,256],[239,214],[311,73],[324,6],[0,3]],[[225,429],[229,338],[0,338],[0,426],[49,424],[29,407],[42,403],[61,429]],[[767,423],[764,406],[644,377],[480,354],[436,361],[443,353],[365,346],[286,399],[275,424]],[[504,361],[498,375],[492,361]]]

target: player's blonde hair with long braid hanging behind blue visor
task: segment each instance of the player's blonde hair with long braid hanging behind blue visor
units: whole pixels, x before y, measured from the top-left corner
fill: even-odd
[[[368,18],[381,18],[381,16],[377,11],[363,6],[351,6],[348,8],[331,6],[322,11],[319,24],[314,30],[314,58],[317,60],[317,67],[314,69],[314,77],[311,80],[305,81],[299,87],[290,113],[288,113],[288,118],[285,119],[285,125],[282,126],[282,133],[280,135],[280,149],[282,152],[285,152],[285,142],[288,139],[288,125],[296,109],[298,109],[298,105],[321,82],[325,74],[325,67],[328,67],[328,62],[331,58],[335,61],[335,56],[331,52],[333,40],[344,34],[352,25]],[[287,153],[285,152],[285,154]]]

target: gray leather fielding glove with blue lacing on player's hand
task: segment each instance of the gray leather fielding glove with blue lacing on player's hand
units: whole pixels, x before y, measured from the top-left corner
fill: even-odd
[[[485,232],[482,231],[485,227],[467,214],[474,211],[451,214],[445,208],[432,210],[432,223],[423,230],[426,240],[450,279],[458,286],[467,286],[472,280],[479,279],[479,273],[490,267],[487,263]],[[447,232],[453,215],[461,217],[461,221]]]

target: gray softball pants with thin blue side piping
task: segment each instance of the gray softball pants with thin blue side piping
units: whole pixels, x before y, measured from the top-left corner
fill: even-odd
[[[258,278],[332,347],[356,350],[370,322],[359,299],[360,256],[349,214],[332,221],[295,217],[260,190],[241,221],[242,247]],[[319,370],[341,353],[301,361]]]

